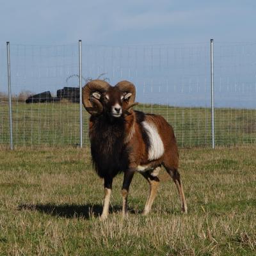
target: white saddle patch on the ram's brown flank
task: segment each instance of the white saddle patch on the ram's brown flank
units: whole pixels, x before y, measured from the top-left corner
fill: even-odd
[[[159,159],[164,154],[164,145],[157,132],[157,128],[154,124],[150,124],[146,121],[142,122],[142,125],[145,128],[150,141],[150,147],[148,148],[148,160],[152,161]]]

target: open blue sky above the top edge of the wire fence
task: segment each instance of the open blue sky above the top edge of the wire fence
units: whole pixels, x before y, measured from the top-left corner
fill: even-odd
[[[0,43],[255,42],[256,1],[0,1]]]

